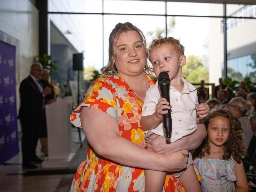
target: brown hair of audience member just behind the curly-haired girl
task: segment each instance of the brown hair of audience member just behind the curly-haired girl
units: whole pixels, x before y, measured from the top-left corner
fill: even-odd
[[[251,113],[253,111],[252,104],[249,102],[246,102],[244,98],[242,97],[234,97],[230,100],[229,104],[231,102],[236,103],[236,106],[238,107],[239,113],[241,113],[242,116],[251,116]]]

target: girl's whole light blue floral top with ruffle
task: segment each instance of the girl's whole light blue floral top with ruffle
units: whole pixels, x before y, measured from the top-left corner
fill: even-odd
[[[233,192],[235,190],[234,181],[235,161],[225,161],[221,159],[196,158],[194,160],[195,171],[202,177],[200,180],[203,192]]]

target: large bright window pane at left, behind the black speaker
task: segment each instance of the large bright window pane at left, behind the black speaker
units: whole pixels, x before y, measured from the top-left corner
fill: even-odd
[[[102,68],[102,15],[49,14],[49,17],[74,48],[84,52],[84,66]]]

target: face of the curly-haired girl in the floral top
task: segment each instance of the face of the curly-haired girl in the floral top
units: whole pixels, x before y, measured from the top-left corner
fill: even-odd
[[[229,120],[223,116],[212,118],[207,128],[209,145],[223,146],[228,140],[230,127]]]

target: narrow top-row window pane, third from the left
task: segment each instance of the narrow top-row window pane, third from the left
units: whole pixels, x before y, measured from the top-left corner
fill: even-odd
[[[167,2],[167,15],[223,16],[222,4]]]

